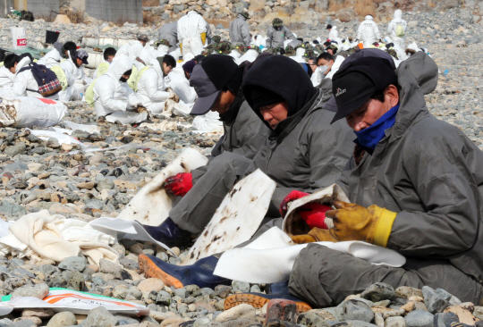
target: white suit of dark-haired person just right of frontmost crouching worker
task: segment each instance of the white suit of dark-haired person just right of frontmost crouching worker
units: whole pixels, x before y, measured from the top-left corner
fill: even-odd
[[[165,79],[159,62],[148,50],[140,53],[140,59],[146,63],[148,69],[141,68],[138,92],[136,95],[142,105],[152,114],[160,114],[165,110],[165,100],[170,96],[165,92]]]

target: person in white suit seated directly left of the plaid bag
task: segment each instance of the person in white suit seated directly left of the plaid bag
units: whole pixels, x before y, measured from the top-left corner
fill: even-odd
[[[32,62],[30,54],[23,55],[7,55],[4,59],[4,67],[15,75],[15,80],[11,88],[13,96],[32,96],[43,97],[38,93],[38,83],[35,80],[30,69],[21,71],[22,68],[28,67]],[[46,96],[49,99],[57,100],[59,94]]]

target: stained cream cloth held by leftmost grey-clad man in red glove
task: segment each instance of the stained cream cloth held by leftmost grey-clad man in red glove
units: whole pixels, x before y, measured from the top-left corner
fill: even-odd
[[[118,219],[138,221],[149,226],[157,226],[168,217],[173,208],[173,199],[165,191],[165,180],[180,172],[191,172],[202,165],[208,164],[208,158],[197,150],[187,148],[174,159],[171,164],[150,180],[129,204],[123,209]]]

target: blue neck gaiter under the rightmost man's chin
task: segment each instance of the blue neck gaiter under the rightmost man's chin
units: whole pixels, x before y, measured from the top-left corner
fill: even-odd
[[[354,140],[355,144],[364,147],[369,155],[377,146],[377,143],[383,139],[386,134],[385,130],[394,126],[395,116],[399,110],[399,104],[392,107],[387,113],[383,114],[375,123],[369,126],[367,129],[354,131],[357,138]]]

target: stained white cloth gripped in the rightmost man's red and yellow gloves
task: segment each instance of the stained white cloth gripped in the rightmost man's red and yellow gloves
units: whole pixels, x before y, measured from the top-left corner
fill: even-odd
[[[311,229],[307,222],[305,222],[300,214],[297,213],[297,209],[308,203],[319,203],[332,206],[335,201],[351,202],[337,184],[332,184],[326,189],[318,190],[307,197],[301,197],[298,200],[293,201],[289,204],[289,210],[285,215],[284,224],[282,226],[283,231],[289,236],[307,234]],[[330,224],[330,222],[327,222],[327,225]]]

